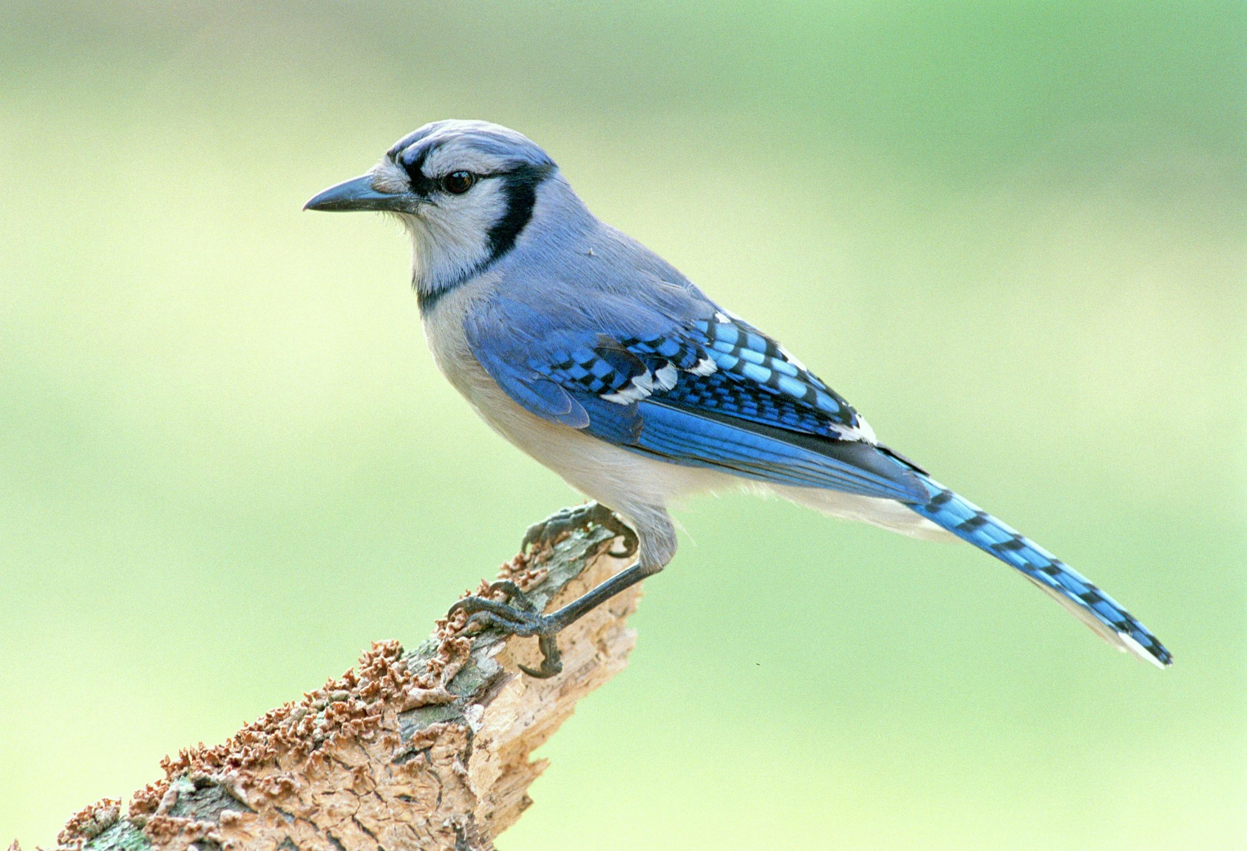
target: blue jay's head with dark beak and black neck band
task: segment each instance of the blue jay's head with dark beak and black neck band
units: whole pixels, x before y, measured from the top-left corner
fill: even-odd
[[[510,252],[554,184],[574,198],[554,161],[522,133],[486,121],[435,121],[304,209],[397,216],[412,234],[423,303]]]

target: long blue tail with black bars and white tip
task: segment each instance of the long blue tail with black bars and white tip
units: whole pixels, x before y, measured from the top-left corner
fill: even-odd
[[[1173,663],[1173,657],[1147,627],[1077,571],[933,478],[922,473],[918,478],[930,500],[925,505],[910,505],[910,508],[1021,571],[1110,644],[1158,668]]]

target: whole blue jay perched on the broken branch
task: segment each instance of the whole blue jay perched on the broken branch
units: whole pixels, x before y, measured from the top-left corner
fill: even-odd
[[[424,125],[304,209],[377,211],[402,223],[440,371],[490,427],[594,501],[530,530],[526,543],[597,521],[635,556],[549,614],[505,581],[455,603],[451,614],[479,628],[536,637],[541,663],[525,673],[560,673],[559,632],[671,562],[673,501],[736,485],[918,538],[966,541],[1111,645],[1172,663],[1109,594],[880,442],[788,349],[599,221],[522,133],[485,121]]]

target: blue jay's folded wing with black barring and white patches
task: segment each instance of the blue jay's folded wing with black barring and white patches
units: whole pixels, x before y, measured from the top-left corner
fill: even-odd
[[[465,328],[515,401],[630,451],[772,483],[928,498],[909,466],[862,440],[868,427],[849,404],[778,344],[708,302],[680,307],[685,319],[599,293],[594,316],[554,311],[575,325],[559,326],[550,310],[500,297]]]

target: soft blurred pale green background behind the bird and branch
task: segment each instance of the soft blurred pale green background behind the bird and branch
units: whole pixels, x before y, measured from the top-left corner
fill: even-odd
[[[481,117],[1177,659],[968,546],[701,498],[503,849],[1247,846],[1245,10],[9,0],[0,840],[420,639],[576,501],[438,375],[399,229],[299,209]]]

